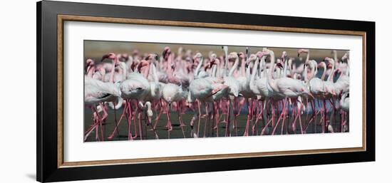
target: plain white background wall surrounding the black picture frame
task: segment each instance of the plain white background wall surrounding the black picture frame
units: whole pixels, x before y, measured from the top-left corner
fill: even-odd
[[[96,0],[85,2],[107,3]],[[390,182],[392,123],[387,74],[392,64],[391,5],[387,1],[110,1],[113,4],[252,14],[376,21],[376,162],[231,172],[100,179],[86,182]],[[36,176],[36,1],[7,1],[0,10],[0,182]],[[389,181],[388,181],[389,180]]]

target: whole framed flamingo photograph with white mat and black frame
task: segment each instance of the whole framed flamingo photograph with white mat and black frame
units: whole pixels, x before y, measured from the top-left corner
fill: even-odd
[[[40,1],[37,65],[39,182],[375,160],[374,22]]]

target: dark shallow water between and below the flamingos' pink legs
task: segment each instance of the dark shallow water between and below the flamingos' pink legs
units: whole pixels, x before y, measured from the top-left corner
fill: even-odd
[[[329,105],[327,105],[327,108],[329,108]],[[123,112],[123,108],[120,110],[116,111],[117,119],[120,119],[120,115]],[[335,119],[331,122],[331,125],[334,127],[334,130],[336,132],[340,132],[340,113],[339,110],[336,111],[336,115],[334,115]],[[155,119],[156,119],[156,112],[154,111],[153,117],[151,117],[151,122],[152,124],[150,125],[145,125],[145,117],[142,115],[141,123],[142,123],[142,131],[143,131],[143,137],[140,136],[139,132],[139,124],[138,124],[138,119],[136,120],[136,123],[132,122],[131,125],[131,132],[132,135],[135,135],[135,130],[138,133],[138,137],[135,138],[135,140],[155,140],[155,135],[154,132],[152,131],[152,126],[155,125]],[[202,114],[204,114],[202,112]],[[279,113],[280,114],[280,113]],[[333,113],[328,113],[328,120],[330,119],[329,117]],[[191,138],[191,131],[192,127],[190,126],[190,121],[193,117],[193,112],[192,111],[187,111],[187,113],[182,114],[182,121],[185,123],[185,127],[183,127],[184,130],[184,135],[185,138]],[[268,115],[270,117],[271,114]],[[289,117],[290,116],[290,117]],[[225,115],[226,117],[226,115]],[[279,117],[279,116],[278,116]],[[284,122],[284,126],[282,128],[282,122],[279,122],[279,125],[277,126],[277,130],[275,132],[275,135],[294,135],[298,134],[301,135],[301,127],[299,126],[299,120],[296,122],[296,132],[292,130],[292,121],[294,120],[293,117],[291,116],[291,110],[288,114],[289,118],[286,118]],[[309,111],[309,115],[307,115],[307,119],[310,120],[311,118],[311,110]],[[93,124],[92,120],[92,113],[89,108],[85,108],[85,115],[84,115],[84,127],[85,130],[87,130],[91,125]],[[170,132],[170,139],[175,139],[175,138],[184,138],[184,135],[182,134],[182,130],[180,127],[180,122],[178,120],[177,112],[171,111],[170,112],[170,119],[172,120],[172,131]],[[202,117],[200,118],[200,125],[197,124],[198,120],[195,120],[194,123],[194,129],[197,131],[197,128],[199,127],[199,135],[198,137],[217,137],[217,134],[219,137],[225,137],[225,128],[226,128],[226,122],[224,122],[224,117],[220,115],[220,122],[218,124],[218,133],[216,129],[213,129],[215,126],[215,120],[209,120],[207,121],[207,117]],[[308,123],[308,120],[306,119],[306,113],[301,115],[301,124],[302,127],[305,128],[307,125],[309,125],[306,129],[306,134],[312,134],[312,133],[321,133],[322,132],[322,125],[320,123],[321,116],[317,115],[316,116],[316,121],[317,124],[314,125],[314,122]],[[275,119],[276,121],[277,119]],[[207,121],[207,124],[206,124]],[[234,128],[232,131],[232,136],[242,136],[245,131],[245,126],[247,122],[247,106],[244,105],[242,108],[242,112],[240,115],[237,116],[237,129]],[[349,124],[349,120],[347,121]],[[249,135],[252,135],[252,126],[254,124],[254,120],[249,122]],[[260,135],[262,132],[262,129],[265,127],[266,122],[264,122],[263,119],[259,120],[258,127],[255,128],[254,130],[254,135]],[[289,124],[289,125],[287,125]],[[167,125],[167,115],[163,113],[158,120],[158,124],[156,127],[156,132],[158,134],[159,139],[167,139],[169,138],[169,133],[167,132],[167,128],[165,127]],[[206,127],[205,127],[206,125]],[[115,128],[115,122],[114,122],[114,111],[113,110],[108,110],[108,118],[105,120],[105,123],[103,124],[103,136],[105,137],[105,141],[109,141],[107,137],[111,135]],[[122,122],[120,122],[120,125],[118,126],[119,130],[119,135],[116,133],[116,135],[113,137],[112,140],[128,140],[127,132],[128,132],[128,124],[127,120],[125,117],[123,117]],[[264,135],[271,135],[272,133],[272,126],[269,125],[269,127],[266,127],[265,134]],[[100,131],[98,131],[98,135],[100,135]],[[95,142],[96,140],[96,130],[93,130],[91,135],[87,138],[86,142]]]

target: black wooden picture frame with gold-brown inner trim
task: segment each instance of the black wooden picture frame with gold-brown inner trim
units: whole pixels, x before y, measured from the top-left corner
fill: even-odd
[[[361,36],[363,145],[323,150],[64,162],[64,21]],[[40,1],[37,3],[37,181],[56,182],[374,161],[374,72],[374,22]]]

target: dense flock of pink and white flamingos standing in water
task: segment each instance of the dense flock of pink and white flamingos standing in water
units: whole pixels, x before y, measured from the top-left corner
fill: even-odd
[[[348,132],[349,52],[320,61],[310,52],[229,53],[222,46],[202,55],[166,46],[160,55],[135,50],[88,58],[84,104],[91,124],[84,140]]]

